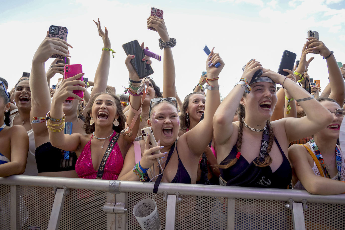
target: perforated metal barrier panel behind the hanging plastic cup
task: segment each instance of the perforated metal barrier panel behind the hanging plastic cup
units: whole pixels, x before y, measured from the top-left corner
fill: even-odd
[[[152,198],[152,193],[139,193],[139,192],[128,192],[127,193],[127,223],[126,229],[128,230],[141,230],[141,227],[133,215],[134,206],[142,199]],[[155,198],[157,204],[157,210],[162,226],[162,230],[165,230],[165,213],[167,212],[167,202],[163,201],[163,194],[157,194]]]

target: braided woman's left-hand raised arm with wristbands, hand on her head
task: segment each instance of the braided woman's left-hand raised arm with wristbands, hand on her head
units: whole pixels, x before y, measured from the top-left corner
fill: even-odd
[[[253,59],[246,64],[242,77],[250,82],[254,73],[260,69],[263,69],[260,62]],[[240,103],[243,93],[245,92],[245,88],[246,87],[242,83],[236,84],[214,114],[214,138],[218,145],[224,144],[233,134],[233,115],[237,111],[238,104]]]

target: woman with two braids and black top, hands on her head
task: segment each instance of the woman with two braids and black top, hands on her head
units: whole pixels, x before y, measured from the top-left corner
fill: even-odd
[[[305,71],[306,54],[313,50],[307,47],[308,42],[303,47],[298,73]],[[323,55],[326,57],[329,53]],[[252,81],[257,70],[263,71],[262,77]],[[263,69],[255,59],[246,64],[242,78],[244,80],[238,82],[220,104],[213,119],[220,184],[287,188],[292,178],[287,158],[288,144],[323,129],[333,116],[294,81]],[[306,117],[269,121],[277,102],[275,82],[299,102]],[[232,122],[232,114],[239,103],[239,121]]]

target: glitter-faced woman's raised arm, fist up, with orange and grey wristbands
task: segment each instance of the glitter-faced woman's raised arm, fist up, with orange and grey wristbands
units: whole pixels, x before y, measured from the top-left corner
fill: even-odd
[[[220,63],[216,68],[215,63]],[[180,138],[186,138],[187,144],[191,152],[196,156],[205,150],[207,144],[213,137],[212,119],[220,104],[218,76],[224,67],[224,62],[218,53],[214,53],[213,49],[206,61],[207,78],[212,90],[208,90],[206,94],[204,120],[200,121],[193,129],[184,133]]]

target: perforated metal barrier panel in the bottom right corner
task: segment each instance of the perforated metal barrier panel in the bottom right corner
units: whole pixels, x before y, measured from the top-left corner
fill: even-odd
[[[304,210],[305,229],[345,229],[345,205],[307,203]]]

